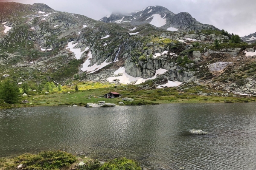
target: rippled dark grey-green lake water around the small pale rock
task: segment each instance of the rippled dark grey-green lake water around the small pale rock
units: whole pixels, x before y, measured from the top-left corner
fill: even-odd
[[[52,149],[125,156],[152,170],[256,170],[256,105],[0,110],[0,157]]]

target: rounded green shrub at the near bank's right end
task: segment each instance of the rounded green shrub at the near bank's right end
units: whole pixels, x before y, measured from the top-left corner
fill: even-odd
[[[141,167],[137,161],[126,158],[116,158],[103,164],[99,170],[141,170]]]

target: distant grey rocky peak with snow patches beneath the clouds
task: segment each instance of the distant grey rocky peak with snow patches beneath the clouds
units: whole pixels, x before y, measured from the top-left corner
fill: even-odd
[[[177,31],[177,29],[201,30],[209,28],[219,30],[218,28],[215,28],[215,26],[198,22],[189,13],[180,12],[179,14],[174,14],[163,6],[149,6],[128,16],[121,14],[110,14],[103,17],[99,21],[104,23],[118,24],[128,22],[133,26],[150,23],[153,26],[167,29],[169,31]]]

